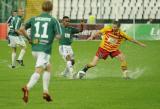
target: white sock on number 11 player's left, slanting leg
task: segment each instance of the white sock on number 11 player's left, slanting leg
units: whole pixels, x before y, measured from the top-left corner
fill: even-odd
[[[40,74],[39,73],[33,73],[28,84],[27,84],[27,89],[30,90],[39,80]]]

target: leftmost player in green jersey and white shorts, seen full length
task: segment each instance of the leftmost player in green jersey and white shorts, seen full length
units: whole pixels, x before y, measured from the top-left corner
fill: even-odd
[[[20,45],[21,47],[21,51],[19,54],[19,57],[17,59],[18,63],[21,64],[21,66],[24,66],[23,64],[23,56],[25,54],[25,49],[26,49],[26,44],[24,39],[21,36],[21,32],[20,32],[20,27],[21,27],[21,23],[22,23],[22,16],[23,16],[23,9],[18,9],[18,15],[14,16],[10,22],[9,25],[9,33],[8,33],[8,37],[10,40],[10,47],[12,48],[12,64],[11,64],[11,68],[15,68],[16,66],[16,48],[17,45]]]

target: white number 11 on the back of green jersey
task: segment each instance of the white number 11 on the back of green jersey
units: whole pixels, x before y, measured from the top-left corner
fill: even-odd
[[[35,37],[48,38],[48,35],[47,35],[48,22],[45,22],[44,24],[42,24],[42,27],[43,27],[42,34],[39,34],[40,22],[36,22],[34,26],[36,27]]]

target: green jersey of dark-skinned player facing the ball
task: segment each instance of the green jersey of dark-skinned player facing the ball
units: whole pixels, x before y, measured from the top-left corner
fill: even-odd
[[[62,29],[62,36],[61,39],[59,40],[60,45],[71,45],[73,34],[80,32],[80,30],[77,28],[64,27],[63,25],[61,25],[61,29]]]

